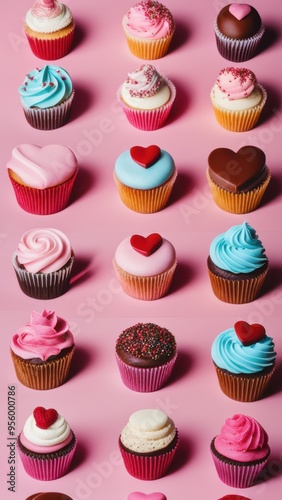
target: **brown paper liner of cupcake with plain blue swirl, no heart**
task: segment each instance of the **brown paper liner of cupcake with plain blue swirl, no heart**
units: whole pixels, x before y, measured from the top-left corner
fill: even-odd
[[[241,280],[222,278],[212,273],[210,269],[208,272],[213,293],[219,300],[229,304],[245,304],[258,297],[268,269],[269,267],[255,278]]]

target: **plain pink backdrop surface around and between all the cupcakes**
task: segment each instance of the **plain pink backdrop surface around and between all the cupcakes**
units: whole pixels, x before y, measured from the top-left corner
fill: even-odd
[[[141,61],[128,50],[121,18],[127,0],[69,0],[77,22],[72,52],[58,61],[69,71],[76,89],[70,122],[44,132],[25,121],[17,88],[24,75],[42,67],[30,51],[22,24],[30,0],[5,2],[1,16],[1,498],[23,500],[38,491],[61,491],[74,500],[127,500],[132,491],[163,492],[168,500],[217,500],[241,493],[252,500],[281,499],[281,9],[274,0],[255,0],[267,28],[264,50],[241,64],[253,70],[269,99],[260,124],[246,133],[232,133],[215,121],[209,92],[218,72],[233,65],[217,52],[213,22],[224,5],[220,0],[168,0],[177,31],[171,50],[155,61],[157,69],[177,88],[177,100],[165,127],[142,132],[133,128],[119,109],[115,94],[128,72]],[[280,16],[280,18],[279,18]],[[80,173],[70,206],[51,216],[30,215],[17,205],[6,173],[14,146],[34,143],[66,144],[77,154]],[[175,159],[179,178],[171,202],[163,211],[140,215],[119,200],[112,171],[116,157],[133,145],[158,144]],[[211,200],[205,171],[207,156],[216,147],[238,150],[253,144],[264,150],[272,181],[262,206],[246,216],[220,210]],[[228,305],[211,291],[206,258],[214,236],[247,220],[257,231],[270,259],[263,294],[246,305]],[[48,303],[25,296],[18,287],[11,255],[22,233],[54,227],[69,237],[76,255],[71,289]],[[124,237],[159,232],[175,246],[178,268],[168,296],[155,302],[126,296],[113,274],[112,257]],[[38,392],[17,382],[9,357],[13,332],[29,320],[32,310],[53,309],[71,324],[76,354],[70,380],[60,388]],[[224,396],[210,359],[214,337],[238,319],[262,323],[273,336],[278,369],[267,396],[238,403]],[[114,359],[118,334],[138,321],[153,321],[175,335],[179,358],[171,383],[151,394],[131,392],[119,378]],[[71,471],[54,482],[27,476],[18,461],[16,493],[7,491],[7,386],[17,388],[17,431],[38,405],[55,407],[70,422],[78,438]],[[181,439],[170,473],[144,482],[126,472],[117,439],[130,413],[162,408],[175,421]],[[224,420],[234,413],[256,418],[267,430],[271,445],[267,481],[248,490],[235,490],[218,479],[209,444]]]

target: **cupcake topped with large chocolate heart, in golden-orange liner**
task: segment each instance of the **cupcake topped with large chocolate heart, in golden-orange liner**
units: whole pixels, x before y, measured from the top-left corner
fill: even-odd
[[[259,206],[271,174],[264,152],[243,146],[237,153],[214,149],[208,157],[207,178],[213,199],[222,210],[244,214]]]

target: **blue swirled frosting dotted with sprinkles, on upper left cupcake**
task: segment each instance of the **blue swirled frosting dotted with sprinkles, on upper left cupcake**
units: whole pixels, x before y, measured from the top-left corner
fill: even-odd
[[[28,73],[18,90],[25,107],[45,109],[66,100],[73,87],[70,75],[65,69],[47,64]]]

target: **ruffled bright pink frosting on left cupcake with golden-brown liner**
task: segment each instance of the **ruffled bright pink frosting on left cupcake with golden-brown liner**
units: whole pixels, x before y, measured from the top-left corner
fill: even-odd
[[[62,349],[74,345],[69,324],[56,316],[54,311],[32,312],[30,322],[20,328],[11,341],[11,349],[22,359],[40,358],[48,360]]]

